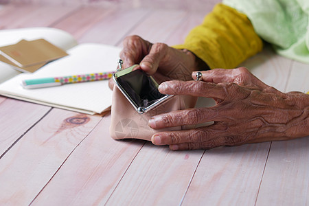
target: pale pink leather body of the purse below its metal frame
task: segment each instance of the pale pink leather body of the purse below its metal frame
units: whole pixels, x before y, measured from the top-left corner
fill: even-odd
[[[111,106],[110,134],[113,139],[144,139],[150,141],[152,135],[162,130],[181,130],[188,126],[177,126],[154,130],[148,126],[150,117],[170,111],[193,108],[197,98],[174,95],[170,100],[159,104],[147,113],[139,114],[119,89],[114,86]]]

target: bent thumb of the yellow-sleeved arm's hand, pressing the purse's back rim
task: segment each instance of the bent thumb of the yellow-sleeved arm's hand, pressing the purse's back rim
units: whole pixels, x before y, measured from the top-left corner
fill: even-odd
[[[160,62],[168,54],[168,45],[155,43],[152,45],[150,52],[141,60],[139,65],[146,73],[152,75],[159,67]]]

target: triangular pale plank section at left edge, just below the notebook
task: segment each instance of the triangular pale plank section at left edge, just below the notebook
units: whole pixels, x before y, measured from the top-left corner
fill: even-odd
[[[10,98],[0,98],[0,157],[32,125],[50,110],[41,106]]]

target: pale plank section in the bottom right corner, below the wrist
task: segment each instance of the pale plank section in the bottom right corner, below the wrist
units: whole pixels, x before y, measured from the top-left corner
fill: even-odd
[[[309,137],[273,142],[256,205],[309,205]]]

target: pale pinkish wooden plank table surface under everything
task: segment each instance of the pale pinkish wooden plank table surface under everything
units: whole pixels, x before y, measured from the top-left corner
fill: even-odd
[[[203,21],[209,2],[196,10],[6,4],[0,28],[55,27],[79,43],[116,46],[138,34],[174,45]],[[280,91],[309,90],[309,65],[269,47],[241,65]],[[308,137],[173,152],[115,141],[110,121],[0,96],[0,205],[309,205]]]

